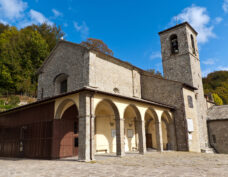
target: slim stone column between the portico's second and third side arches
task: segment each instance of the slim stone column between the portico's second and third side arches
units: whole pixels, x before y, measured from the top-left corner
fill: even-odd
[[[145,123],[144,121],[140,120],[137,121],[138,124],[138,134],[139,134],[139,153],[145,154],[146,153],[146,137],[145,137]]]

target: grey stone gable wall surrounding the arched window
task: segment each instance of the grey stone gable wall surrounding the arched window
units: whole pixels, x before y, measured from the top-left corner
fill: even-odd
[[[59,74],[68,75],[67,91],[88,85],[89,52],[77,45],[60,41],[41,69],[38,78],[38,99],[55,96],[54,80]]]

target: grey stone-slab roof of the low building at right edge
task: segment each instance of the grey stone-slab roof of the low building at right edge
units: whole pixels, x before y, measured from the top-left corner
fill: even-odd
[[[207,111],[208,120],[228,120],[228,105],[212,106]]]

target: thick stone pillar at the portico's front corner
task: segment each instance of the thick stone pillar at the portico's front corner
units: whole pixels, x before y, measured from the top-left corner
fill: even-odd
[[[93,146],[93,131],[92,139],[90,134],[90,129],[94,129],[90,127],[91,119],[93,119],[93,107],[92,107],[92,94],[90,92],[81,92],[79,94],[79,147],[78,147],[78,159],[80,161],[90,161],[93,159],[94,152]],[[92,147],[92,149],[91,149]],[[91,149],[91,151],[90,151]]]

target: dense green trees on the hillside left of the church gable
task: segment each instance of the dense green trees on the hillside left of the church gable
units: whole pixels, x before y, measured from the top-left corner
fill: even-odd
[[[0,34],[1,92],[35,95],[35,72],[49,54],[42,36],[31,28],[10,27]]]

